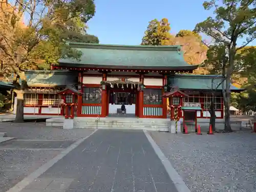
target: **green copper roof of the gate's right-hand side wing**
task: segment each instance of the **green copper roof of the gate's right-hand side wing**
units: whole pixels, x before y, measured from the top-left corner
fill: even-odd
[[[211,90],[211,82],[212,88],[216,89],[222,79],[221,75],[176,74],[168,78],[168,84],[170,87],[178,87],[179,89]],[[222,85],[217,90],[222,90]],[[243,89],[231,86],[231,91],[243,91]]]

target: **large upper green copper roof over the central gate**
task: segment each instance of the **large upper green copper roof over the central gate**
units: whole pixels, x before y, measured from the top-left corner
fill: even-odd
[[[180,46],[121,46],[77,42],[69,42],[69,45],[81,51],[80,61],[60,59],[60,66],[159,70],[197,68],[184,61]]]

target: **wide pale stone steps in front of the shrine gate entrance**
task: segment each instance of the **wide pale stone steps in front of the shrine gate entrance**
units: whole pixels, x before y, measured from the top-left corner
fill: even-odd
[[[54,120],[55,119],[55,120]],[[47,119],[48,126],[63,126],[63,120],[59,118]],[[74,128],[80,129],[125,129],[125,130],[151,130],[168,132],[169,119],[144,119],[144,118],[90,118],[75,117]]]

